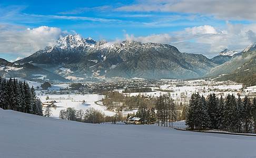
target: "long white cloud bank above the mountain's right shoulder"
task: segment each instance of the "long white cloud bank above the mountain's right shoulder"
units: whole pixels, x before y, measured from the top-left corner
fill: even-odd
[[[232,51],[242,51],[251,43],[256,42],[256,24],[232,24],[219,29],[210,25],[184,28],[183,31],[170,34],[152,34],[136,37],[124,32],[124,40],[140,41],[142,43],[170,44],[180,52],[203,54],[209,58],[218,55],[225,48]],[[118,39],[120,41],[120,39]]]

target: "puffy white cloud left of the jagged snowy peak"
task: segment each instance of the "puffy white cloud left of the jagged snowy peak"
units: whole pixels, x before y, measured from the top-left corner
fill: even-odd
[[[3,29],[0,32],[0,54],[28,56],[46,46],[53,46],[60,35],[67,32],[60,28],[40,26],[27,29]]]

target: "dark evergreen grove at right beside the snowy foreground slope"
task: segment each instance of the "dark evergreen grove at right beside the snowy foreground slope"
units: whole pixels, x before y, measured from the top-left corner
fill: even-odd
[[[243,100],[228,94],[220,98],[210,94],[208,99],[193,93],[186,113],[186,124],[191,130],[225,130],[256,133],[256,98]]]

